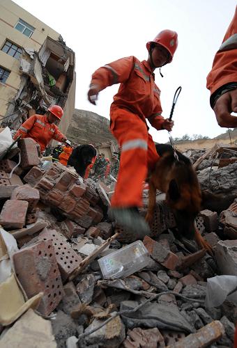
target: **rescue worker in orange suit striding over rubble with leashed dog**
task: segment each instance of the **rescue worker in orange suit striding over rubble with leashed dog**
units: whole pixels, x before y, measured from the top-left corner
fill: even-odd
[[[171,63],[178,45],[175,31],[161,31],[146,44],[148,59],[135,56],[121,58],[96,70],[88,92],[95,104],[98,93],[107,86],[121,84],[110,109],[110,129],[121,147],[121,161],[110,214],[127,230],[142,238],[150,229],[139,215],[142,188],[148,168],[153,169],[159,157],[146,125],[171,131],[174,122],[162,117],[160,89],[155,84],[155,68]]]

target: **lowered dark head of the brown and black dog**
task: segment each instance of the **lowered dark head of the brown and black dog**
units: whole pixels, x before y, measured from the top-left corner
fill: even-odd
[[[192,166],[179,164],[169,182],[167,203],[176,219],[178,231],[188,239],[194,237],[194,219],[201,209],[201,191]]]

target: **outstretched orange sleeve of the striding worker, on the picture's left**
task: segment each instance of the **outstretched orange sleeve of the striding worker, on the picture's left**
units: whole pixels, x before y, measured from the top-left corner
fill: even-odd
[[[130,77],[130,72],[135,64],[135,57],[121,58],[95,70],[90,86],[99,86],[100,90],[114,84],[125,82]]]

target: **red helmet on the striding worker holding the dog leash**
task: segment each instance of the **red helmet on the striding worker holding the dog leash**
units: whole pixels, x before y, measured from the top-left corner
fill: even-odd
[[[174,52],[176,52],[176,49],[178,47],[178,34],[176,33],[176,31],[169,29],[160,31],[160,33],[155,36],[153,41],[147,42],[146,48],[148,49],[148,51],[150,50],[151,44],[161,45],[162,47],[165,47],[165,49],[167,49],[170,54],[170,58],[167,63],[170,63],[173,59]]]

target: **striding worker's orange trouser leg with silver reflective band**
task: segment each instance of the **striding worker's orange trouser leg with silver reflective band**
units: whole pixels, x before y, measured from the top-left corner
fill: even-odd
[[[155,160],[154,153],[148,155],[148,148],[152,148],[152,138],[148,137],[146,123],[137,115],[117,109],[111,117],[112,133],[121,146],[119,175],[111,205],[141,207],[148,162],[151,165]]]

